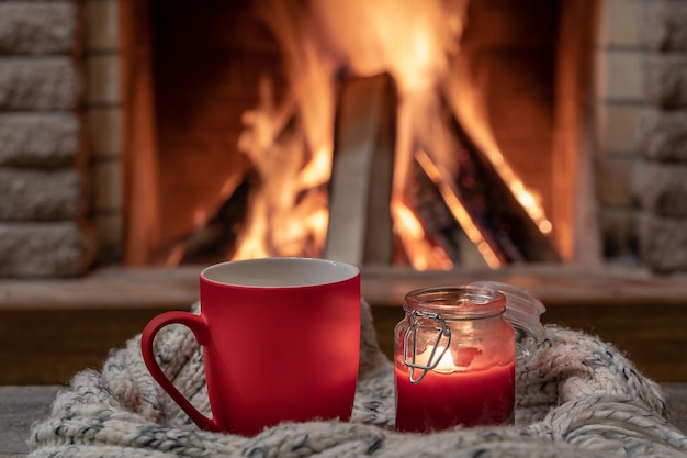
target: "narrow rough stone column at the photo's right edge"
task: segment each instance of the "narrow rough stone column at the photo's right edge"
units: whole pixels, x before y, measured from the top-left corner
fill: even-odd
[[[687,270],[687,0],[646,5],[646,107],[639,120],[642,160],[640,254],[653,270]]]

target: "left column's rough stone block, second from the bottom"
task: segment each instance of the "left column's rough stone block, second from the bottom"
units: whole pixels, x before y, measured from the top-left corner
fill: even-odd
[[[0,168],[0,221],[76,219],[85,209],[82,186],[76,168]]]

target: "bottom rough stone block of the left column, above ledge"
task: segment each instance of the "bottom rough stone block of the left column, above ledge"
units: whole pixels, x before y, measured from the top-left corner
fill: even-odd
[[[0,222],[0,277],[76,277],[94,258],[94,238],[78,223]]]

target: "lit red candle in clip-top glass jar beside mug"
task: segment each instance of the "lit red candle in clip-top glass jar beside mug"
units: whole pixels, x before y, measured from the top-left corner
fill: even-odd
[[[513,421],[515,333],[506,298],[477,287],[409,292],[394,331],[396,429]]]

